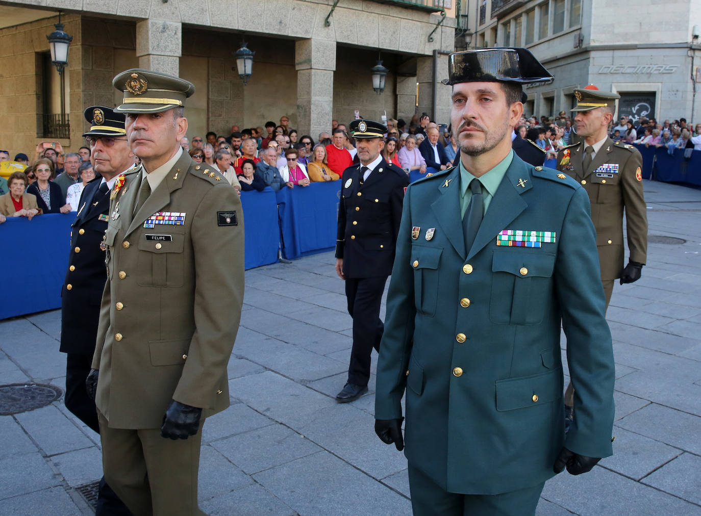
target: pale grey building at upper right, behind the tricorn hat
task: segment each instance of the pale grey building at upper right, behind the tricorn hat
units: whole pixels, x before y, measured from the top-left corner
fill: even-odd
[[[471,44],[522,46],[554,76],[526,88],[526,114],[557,115],[575,88],[621,96],[618,113],[701,120],[701,2],[640,0],[470,0]]]

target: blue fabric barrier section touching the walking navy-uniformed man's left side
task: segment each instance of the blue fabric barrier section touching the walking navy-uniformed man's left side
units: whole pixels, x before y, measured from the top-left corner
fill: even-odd
[[[341,181],[278,191],[283,256],[287,260],[335,249]]]

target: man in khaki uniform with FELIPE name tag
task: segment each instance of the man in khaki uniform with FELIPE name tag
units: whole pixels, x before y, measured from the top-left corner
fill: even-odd
[[[202,426],[229,407],[226,365],[243,303],[241,203],[180,147],[191,83],[132,69],[113,84],[142,166],[112,188],[104,238],[88,376],[104,475],[136,516],[199,515]]]

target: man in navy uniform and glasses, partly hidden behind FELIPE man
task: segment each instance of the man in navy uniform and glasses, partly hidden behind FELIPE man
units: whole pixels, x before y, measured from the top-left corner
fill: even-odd
[[[126,141],[122,113],[91,106],[86,109],[85,118],[90,130],[83,137],[90,144],[93,169],[101,175],[83,190],[72,225],[69,267],[61,293],[60,351],[67,354],[66,408],[100,433],[95,401],[86,391],[86,377],[93,362],[100,302],[107,280],[102,239],[107,229],[109,191],[117,176],[134,164],[134,155]],[[96,514],[131,514],[104,479],[100,482]]]

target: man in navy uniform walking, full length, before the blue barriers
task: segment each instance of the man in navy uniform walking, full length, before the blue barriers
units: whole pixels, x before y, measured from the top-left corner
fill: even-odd
[[[353,120],[351,134],[358,165],[343,172],[336,241],[336,273],[346,280],[348,313],[353,317],[353,349],[348,382],[336,396],[340,403],[367,392],[370,354],[379,351],[384,325],[380,302],[392,273],[395,243],[402,218],[407,174],[383,160],[387,127],[372,120]]]

